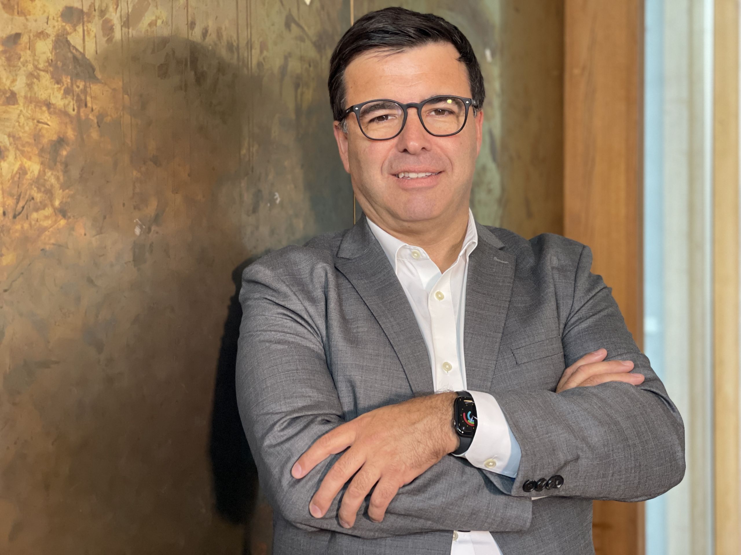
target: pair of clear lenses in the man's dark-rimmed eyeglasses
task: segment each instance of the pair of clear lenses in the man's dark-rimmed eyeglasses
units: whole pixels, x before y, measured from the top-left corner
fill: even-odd
[[[460,98],[450,96],[431,98],[419,110],[422,114],[422,124],[432,135],[451,135],[459,132],[465,121],[465,104]],[[414,114],[410,112],[408,117],[414,117]],[[371,102],[360,109],[358,121],[368,137],[391,138],[402,128],[404,110],[392,101]]]

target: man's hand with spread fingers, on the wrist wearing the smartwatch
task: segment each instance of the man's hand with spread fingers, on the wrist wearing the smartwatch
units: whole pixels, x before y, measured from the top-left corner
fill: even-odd
[[[324,516],[355,474],[342,497],[340,524],[345,528],[355,524],[358,509],[373,485],[368,517],[381,522],[402,485],[458,448],[458,435],[451,424],[456,395],[445,392],[376,408],[319,437],[293,465],[294,478],[306,476],[330,454],[349,449],[336,460],[312,497],[309,512],[313,517]]]

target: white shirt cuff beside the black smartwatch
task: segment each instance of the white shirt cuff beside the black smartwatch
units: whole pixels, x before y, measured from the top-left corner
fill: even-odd
[[[516,477],[522,452],[502,408],[488,393],[471,390],[468,393],[476,403],[478,422],[471,446],[462,457],[477,468]]]

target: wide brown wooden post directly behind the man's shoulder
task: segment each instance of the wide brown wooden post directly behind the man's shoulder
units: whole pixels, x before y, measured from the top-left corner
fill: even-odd
[[[642,343],[643,0],[565,0],[564,234]],[[594,502],[599,555],[644,551],[642,503]]]

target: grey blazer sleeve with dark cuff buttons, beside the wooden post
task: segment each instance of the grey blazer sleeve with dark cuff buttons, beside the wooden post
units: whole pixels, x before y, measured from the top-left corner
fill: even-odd
[[[571,242],[572,246],[580,243]],[[566,367],[600,347],[605,360],[632,360],[639,386],[612,382],[553,391],[510,391],[496,399],[522,456],[514,480],[488,473],[516,497],[566,496],[642,501],[668,491],[685,473],[682,417],[645,354],[638,349],[612,290],[591,273],[592,254],[581,245],[574,279],[558,278],[556,295],[571,297],[562,332]],[[568,250],[559,258],[568,259]],[[576,255],[571,255],[576,260]],[[528,480],[560,475],[561,488],[526,492]]]

